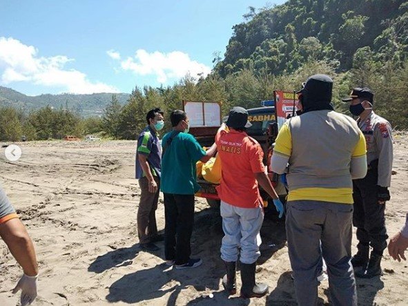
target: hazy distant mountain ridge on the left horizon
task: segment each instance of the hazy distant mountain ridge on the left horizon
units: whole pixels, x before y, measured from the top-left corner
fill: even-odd
[[[67,108],[77,111],[84,117],[100,115],[106,105],[112,100],[112,95],[116,95],[120,104],[126,104],[128,93],[93,93],[92,95],[74,95],[63,93],[61,95],[37,95],[30,97],[18,91],[0,86],[0,106],[13,106],[29,112],[44,106],[54,108]]]

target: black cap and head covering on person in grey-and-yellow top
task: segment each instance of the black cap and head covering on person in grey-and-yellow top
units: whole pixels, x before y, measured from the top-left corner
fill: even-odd
[[[333,111],[331,95],[333,80],[327,75],[312,75],[307,79],[302,93],[303,113],[309,111],[322,111],[324,109]]]

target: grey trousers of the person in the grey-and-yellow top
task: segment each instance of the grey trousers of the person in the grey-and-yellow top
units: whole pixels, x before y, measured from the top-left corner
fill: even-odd
[[[351,266],[353,205],[311,200],[287,202],[286,238],[298,305],[318,305],[322,257],[327,263],[331,304],[357,305]]]

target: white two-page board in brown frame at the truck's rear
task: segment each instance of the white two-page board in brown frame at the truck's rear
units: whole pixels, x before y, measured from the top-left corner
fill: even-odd
[[[191,127],[221,125],[220,102],[183,101],[183,106]]]

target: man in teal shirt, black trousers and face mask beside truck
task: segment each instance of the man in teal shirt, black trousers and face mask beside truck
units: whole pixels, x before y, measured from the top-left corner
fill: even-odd
[[[184,111],[175,110],[170,115],[173,131],[162,140],[162,180],[166,218],[164,252],[168,265],[176,269],[195,268],[202,264],[200,258],[190,258],[191,233],[194,223],[194,194],[199,191],[195,164],[207,162],[215,154],[213,144],[204,151],[193,135],[188,134],[188,117]]]

